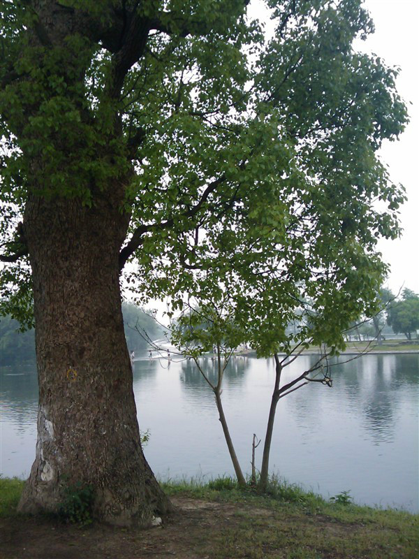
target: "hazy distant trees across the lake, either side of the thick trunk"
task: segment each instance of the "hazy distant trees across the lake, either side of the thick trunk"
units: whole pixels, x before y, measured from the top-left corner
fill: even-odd
[[[147,349],[145,338],[163,336],[163,328],[140,308],[123,303],[124,330],[128,350],[140,352]],[[10,315],[0,317],[0,365],[13,365],[22,361],[35,361],[35,331],[20,331],[20,324]]]

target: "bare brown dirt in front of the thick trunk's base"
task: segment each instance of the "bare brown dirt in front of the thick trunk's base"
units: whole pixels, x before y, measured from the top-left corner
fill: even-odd
[[[1,559],[213,559],[219,557],[253,557],[237,546],[240,527],[252,518],[263,528],[286,529],[288,521],[277,518],[270,509],[258,509],[249,504],[208,502],[186,497],[173,497],[177,507],[162,527],[148,530],[128,530],[91,525],[78,528],[58,521],[35,518],[0,519]],[[292,521],[292,519],[289,519]],[[307,522],[311,524],[307,518]],[[329,524],[316,518],[318,530],[328,530],[339,536],[348,526]],[[308,526],[307,526],[308,528]],[[316,528],[317,529],[317,528]],[[227,536],[228,534],[228,536]],[[233,534],[233,539],[232,535]],[[342,534],[343,535],[343,534]],[[223,539],[224,538],[224,539]],[[240,538],[242,540],[242,538]],[[240,547],[240,551],[239,551]],[[228,549],[227,549],[228,548]],[[281,548],[266,549],[262,557],[288,557]],[[258,555],[259,556],[259,555]]]

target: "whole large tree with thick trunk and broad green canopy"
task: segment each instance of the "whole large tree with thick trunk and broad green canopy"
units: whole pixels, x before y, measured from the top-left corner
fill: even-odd
[[[140,448],[128,261],[143,298],[258,301],[256,330],[302,296],[314,342],[374,312],[404,199],[376,157],[406,122],[396,73],[353,51],[360,0],[269,0],[270,41],[247,3],[1,3],[2,307],[33,300],[40,386],[22,511],[75,482],[113,523],[170,506]]]

